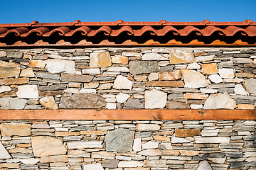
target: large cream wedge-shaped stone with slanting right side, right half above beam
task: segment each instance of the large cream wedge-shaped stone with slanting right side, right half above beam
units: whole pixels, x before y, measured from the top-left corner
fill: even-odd
[[[189,69],[181,69],[186,88],[198,88],[208,86],[206,77],[200,72]]]

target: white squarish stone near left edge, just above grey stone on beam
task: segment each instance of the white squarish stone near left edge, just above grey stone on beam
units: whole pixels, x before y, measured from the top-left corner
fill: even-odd
[[[38,98],[38,88],[36,85],[18,86],[18,98]]]

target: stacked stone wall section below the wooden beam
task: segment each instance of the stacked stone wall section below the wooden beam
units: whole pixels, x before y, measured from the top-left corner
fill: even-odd
[[[1,120],[0,169],[256,169],[255,120]]]

